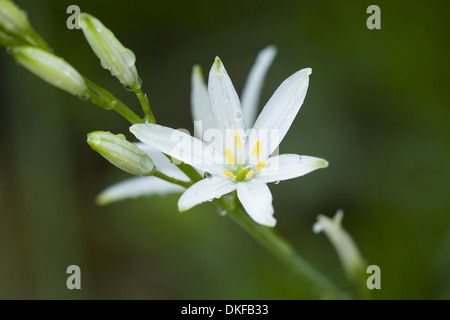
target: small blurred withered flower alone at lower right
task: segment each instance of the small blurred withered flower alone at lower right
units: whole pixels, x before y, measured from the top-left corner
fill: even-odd
[[[342,227],[344,211],[338,210],[334,218],[319,215],[313,225],[314,233],[323,231],[338,253],[347,276],[358,281],[364,271],[364,259],[350,234]]]

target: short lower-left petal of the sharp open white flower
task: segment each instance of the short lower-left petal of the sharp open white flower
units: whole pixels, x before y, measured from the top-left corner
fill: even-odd
[[[236,189],[236,182],[230,178],[213,176],[200,180],[189,187],[178,200],[178,210],[184,212],[196,205],[220,198]]]

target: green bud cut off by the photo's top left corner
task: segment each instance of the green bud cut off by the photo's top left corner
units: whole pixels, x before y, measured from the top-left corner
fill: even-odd
[[[31,29],[27,14],[10,0],[0,0],[0,28],[8,33],[23,36]]]

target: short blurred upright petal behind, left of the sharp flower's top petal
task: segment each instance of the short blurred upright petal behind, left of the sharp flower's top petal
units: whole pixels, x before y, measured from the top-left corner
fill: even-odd
[[[208,88],[203,80],[202,70],[199,66],[194,66],[192,69],[191,81],[191,112],[194,120],[194,136],[202,139],[203,132],[215,128],[216,124],[209,105]]]

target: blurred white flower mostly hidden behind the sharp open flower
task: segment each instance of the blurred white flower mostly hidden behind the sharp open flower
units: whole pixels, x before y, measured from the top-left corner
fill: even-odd
[[[256,62],[250,71],[242,93],[242,108],[246,123],[253,124],[255,121],[264,78],[275,54],[276,49],[274,46],[263,49],[256,58]],[[209,104],[208,89],[203,81],[200,67],[198,66],[194,66],[192,71],[191,111],[194,122],[199,124],[195,126],[196,129],[203,127],[202,131],[205,131],[215,128],[215,122]],[[202,131],[200,131],[199,137],[202,135]],[[153,159],[158,171],[178,180],[188,180],[186,175],[160,151],[142,143],[138,143],[137,145]],[[169,183],[157,177],[136,177],[108,187],[98,195],[97,203],[106,205],[129,198],[181,193],[184,190],[185,188],[179,185]]]

